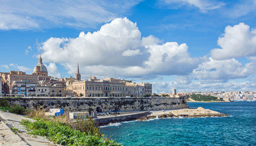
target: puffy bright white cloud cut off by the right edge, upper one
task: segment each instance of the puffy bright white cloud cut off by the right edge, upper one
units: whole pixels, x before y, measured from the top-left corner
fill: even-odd
[[[256,33],[250,26],[240,23],[225,27],[225,33],[219,37],[221,49],[211,50],[211,57],[216,60],[247,57],[256,55]]]

